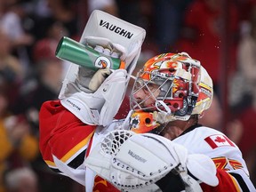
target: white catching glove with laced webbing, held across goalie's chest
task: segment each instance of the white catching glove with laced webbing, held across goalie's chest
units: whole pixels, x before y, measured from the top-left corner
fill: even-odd
[[[201,164],[202,157],[204,164]],[[110,132],[85,159],[85,164],[119,189],[143,188],[176,170],[186,190],[198,191],[198,182],[191,182],[187,164],[199,161],[189,169],[208,185],[216,186],[216,168],[210,157],[188,155],[188,150],[156,134],[134,134],[129,131]],[[204,166],[206,165],[206,166]],[[195,166],[195,164],[194,164]],[[201,172],[202,171],[202,172]],[[204,174],[208,175],[204,175]]]

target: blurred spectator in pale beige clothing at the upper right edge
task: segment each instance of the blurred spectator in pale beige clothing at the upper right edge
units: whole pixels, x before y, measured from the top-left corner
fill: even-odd
[[[238,68],[229,81],[229,104],[234,114],[241,113],[256,101],[256,4],[250,20],[242,24],[237,50]]]

